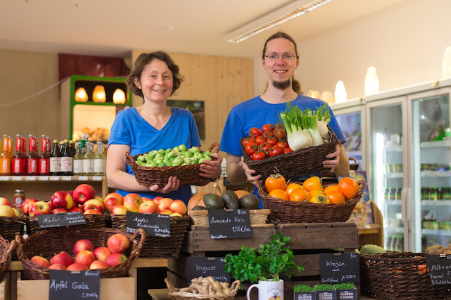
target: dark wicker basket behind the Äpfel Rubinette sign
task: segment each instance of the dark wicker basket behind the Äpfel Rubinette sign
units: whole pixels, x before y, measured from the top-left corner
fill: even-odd
[[[171,238],[148,236],[145,240],[141,256],[144,258],[178,258],[184,235],[189,226],[189,216],[170,217]],[[127,231],[127,217],[125,215],[111,215],[111,226]]]

